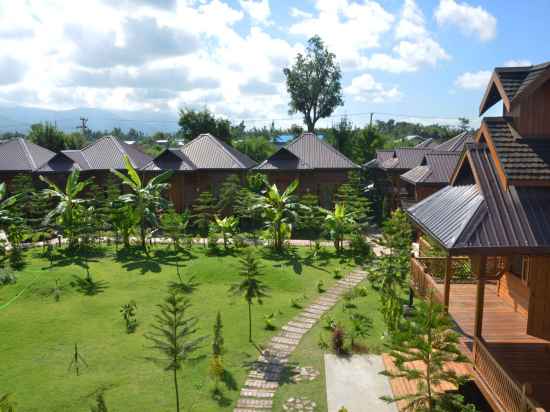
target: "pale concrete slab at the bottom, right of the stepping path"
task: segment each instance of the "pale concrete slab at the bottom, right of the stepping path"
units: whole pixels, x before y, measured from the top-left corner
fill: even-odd
[[[345,406],[349,412],[395,412],[380,396],[391,396],[389,379],[380,375],[384,362],[379,355],[354,355],[343,358],[325,354],[328,412]]]

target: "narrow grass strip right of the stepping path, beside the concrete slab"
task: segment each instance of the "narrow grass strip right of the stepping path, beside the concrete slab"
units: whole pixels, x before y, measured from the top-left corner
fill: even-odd
[[[380,313],[379,295],[368,286],[367,281],[362,282],[368,288],[366,297],[357,297],[351,302],[356,305],[353,308],[357,313],[366,315],[372,321],[372,327],[369,335],[356,343],[360,343],[366,349],[373,353],[379,353],[383,347],[382,334],[384,331],[384,322]],[[320,372],[318,379],[313,381],[302,381],[293,383],[285,380],[275,394],[273,410],[283,410],[283,404],[288,398],[305,397],[313,400],[317,404],[317,410],[324,412],[327,410],[326,383],[325,383],[325,362],[324,354],[329,350],[323,350],[319,347],[320,336],[330,345],[330,331],[325,327],[327,318],[330,317],[336,323],[344,327],[346,331],[351,330],[352,324],[349,320],[349,310],[344,310],[344,301],[340,300],[327,315],[321,318],[303,338],[296,350],[289,359],[289,365],[313,366]],[[349,340],[348,340],[349,346]],[[342,405],[345,406],[345,405]]]

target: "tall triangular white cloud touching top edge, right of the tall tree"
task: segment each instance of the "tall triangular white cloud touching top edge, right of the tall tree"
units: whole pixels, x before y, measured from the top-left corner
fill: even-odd
[[[435,66],[440,60],[450,59],[426,28],[424,14],[414,0],[405,0],[395,38],[398,43],[392,49],[393,56],[375,53],[366,60],[365,67],[391,73],[413,72],[424,65]]]

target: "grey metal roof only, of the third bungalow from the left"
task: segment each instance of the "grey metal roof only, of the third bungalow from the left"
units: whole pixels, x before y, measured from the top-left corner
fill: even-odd
[[[167,149],[143,170],[249,169],[256,162],[211,134],[201,134],[180,148]]]

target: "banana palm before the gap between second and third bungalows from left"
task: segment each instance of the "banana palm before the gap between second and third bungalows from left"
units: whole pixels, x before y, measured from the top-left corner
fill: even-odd
[[[155,212],[163,199],[161,193],[169,187],[166,181],[172,175],[172,171],[167,171],[155,176],[145,184],[136,169],[134,169],[134,166],[132,166],[128,156],[124,156],[124,166],[126,167],[126,173],[128,175],[114,169],[111,169],[111,173],[114,173],[120,178],[122,183],[128,186],[132,191],[132,193],[121,195],[120,200],[133,205],[137,219],[139,220],[141,247],[143,250],[147,251],[147,246],[145,244],[146,224],[147,221],[156,220]]]

